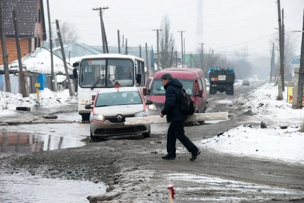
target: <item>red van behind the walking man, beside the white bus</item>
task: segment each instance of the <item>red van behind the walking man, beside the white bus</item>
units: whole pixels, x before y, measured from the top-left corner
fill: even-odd
[[[152,83],[146,84],[143,94],[153,104],[149,105],[150,115],[158,115],[165,106],[165,89],[161,84],[161,76],[170,73],[182,83],[182,88],[189,94],[196,106],[195,113],[205,113],[207,108],[207,89],[204,73],[199,68],[166,68],[155,74]]]

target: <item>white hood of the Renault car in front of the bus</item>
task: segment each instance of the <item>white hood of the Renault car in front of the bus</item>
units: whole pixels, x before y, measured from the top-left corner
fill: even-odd
[[[108,106],[108,107],[95,107],[95,115],[103,116],[117,116],[117,115],[132,115],[137,112],[144,111],[143,104],[131,104],[131,105],[120,105],[120,106]]]

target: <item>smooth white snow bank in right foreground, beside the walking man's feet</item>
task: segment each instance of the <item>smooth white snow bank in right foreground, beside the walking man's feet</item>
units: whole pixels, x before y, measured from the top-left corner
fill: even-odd
[[[277,159],[304,164],[304,133],[297,132],[298,126],[287,129],[262,129],[251,125],[241,125],[207,140],[197,141],[201,148],[239,156]]]

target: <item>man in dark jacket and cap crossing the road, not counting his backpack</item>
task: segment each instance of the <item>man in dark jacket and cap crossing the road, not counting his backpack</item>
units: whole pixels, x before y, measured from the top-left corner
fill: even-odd
[[[201,151],[184,134],[183,123],[187,119],[180,108],[180,91],[182,83],[173,79],[172,75],[165,73],[161,76],[161,82],[166,90],[165,107],[160,113],[160,117],[167,115],[167,122],[171,122],[167,134],[167,155],[162,159],[176,159],[176,139],[191,152],[190,161],[194,161]]]

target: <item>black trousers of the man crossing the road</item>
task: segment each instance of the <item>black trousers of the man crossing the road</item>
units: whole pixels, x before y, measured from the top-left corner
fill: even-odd
[[[198,150],[184,133],[183,120],[171,121],[167,134],[167,153],[170,156],[176,157],[176,139],[179,139],[189,152]]]

